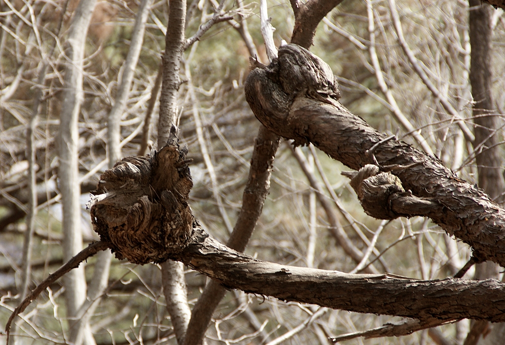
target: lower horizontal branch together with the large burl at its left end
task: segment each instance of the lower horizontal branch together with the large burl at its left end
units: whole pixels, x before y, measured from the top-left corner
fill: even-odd
[[[164,150],[168,151],[162,154]],[[254,259],[220,244],[210,238],[190,214],[186,201],[189,172],[181,160],[183,155],[176,150],[174,140],[150,159],[125,158],[104,174],[107,180],[100,182],[99,190],[102,194],[97,195],[98,200],[92,206],[91,214],[95,230],[120,257],[139,263],[177,259],[229,289],[335,309],[417,318],[428,325],[435,320],[452,321],[461,318],[494,322],[505,320],[505,284],[496,280],[450,278],[418,281],[387,274],[348,274],[284,266]],[[171,152],[178,159],[164,158],[169,157],[168,153]],[[128,166],[132,171],[150,170],[151,173],[125,173],[124,169],[118,169],[122,165]],[[160,184],[160,175],[157,173],[159,168],[168,172],[166,180],[173,181],[170,185]],[[147,195],[138,192],[137,190],[142,190],[138,186],[147,181],[152,186],[151,192]],[[184,187],[177,187],[181,183]],[[122,188],[112,188],[115,185]],[[111,187],[109,191],[106,191],[106,186]],[[163,196],[167,194],[177,196]],[[136,195],[137,202],[132,203],[133,195]],[[113,207],[115,199],[131,201],[126,205],[121,201]],[[104,204],[105,200],[108,202]],[[158,207],[164,212],[128,211],[139,208],[138,205],[144,202],[142,200],[148,200],[151,209]],[[102,208],[115,213],[109,216],[104,213],[105,216],[98,221],[96,214]],[[129,214],[117,217],[118,210],[126,210]],[[185,218],[181,216],[184,212]],[[125,220],[125,217],[128,219]],[[172,220],[168,228],[164,227],[166,222],[161,221],[167,218]],[[186,221],[179,221],[180,219]],[[117,220],[129,226],[117,226]],[[127,236],[125,229],[128,230]],[[146,241],[150,242],[145,243]]]

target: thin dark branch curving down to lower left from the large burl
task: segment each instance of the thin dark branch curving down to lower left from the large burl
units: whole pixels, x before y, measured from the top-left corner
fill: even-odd
[[[37,287],[33,289],[33,291],[28,296],[26,296],[26,298],[16,307],[16,309],[14,309],[11,316],[9,317],[9,320],[7,321],[7,324],[5,326],[5,331],[7,334],[7,345],[9,344],[9,333],[11,331],[12,321],[16,316],[22,313],[26,309],[26,307],[30,305],[31,301],[36,299],[37,296],[40,295],[40,293],[44,291],[47,287],[49,287],[51,284],[53,284],[58,279],[63,277],[65,273],[70,272],[72,269],[76,267],[79,267],[82,261],[86,260],[90,256],[93,256],[100,250],[106,250],[108,248],[109,244],[104,241],[98,241],[88,245],[86,248],[81,250],[77,255],[72,257],[67,263],[58,268],[57,271],[49,275],[49,277],[47,277],[42,283],[37,285]]]

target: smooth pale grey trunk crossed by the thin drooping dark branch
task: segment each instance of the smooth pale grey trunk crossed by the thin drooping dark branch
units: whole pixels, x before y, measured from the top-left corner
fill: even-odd
[[[68,261],[82,250],[81,207],[79,202],[78,120],[84,93],[83,58],[86,35],[96,0],[81,0],[70,24],[66,54],[63,104],[60,114],[60,169],[59,187],[63,207],[63,260]],[[75,318],[86,299],[86,278],[81,265],[65,275],[65,301],[70,323],[70,338],[75,338],[78,327]],[[89,327],[84,331],[84,342],[94,344]]]

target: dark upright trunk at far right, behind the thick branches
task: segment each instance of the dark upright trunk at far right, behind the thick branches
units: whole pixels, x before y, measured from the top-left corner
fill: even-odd
[[[471,45],[470,83],[472,86],[473,116],[475,123],[474,149],[477,169],[479,173],[479,187],[500,203],[501,193],[505,191],[505,184],[501,175],[502,159],[500,155],[497,133],[497,117],[492,115],[492,81],[491,81],[491,14],[493,9],[481,4],[478,0],[469,0],[469,36]],[[499,265],[494,262],[484,262],[476,265],[475,279],[499,278]],[[501,343],[500,334],[505,324],[492,325],[491,333],[480,339],[481,333],[487,329],[486,321],[472,322],[465,344]],[[496,342],[497,340],[500,340]]]

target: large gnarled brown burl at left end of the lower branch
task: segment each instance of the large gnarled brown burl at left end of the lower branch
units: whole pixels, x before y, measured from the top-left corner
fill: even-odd
[[[179,148],[177,134],[172,126],[159,152],[124,158],[100,176],[91,221],[118,259],[163,262],[180,253],[192,235],[187,199],[193,182],[187,148]]]

